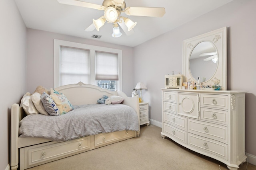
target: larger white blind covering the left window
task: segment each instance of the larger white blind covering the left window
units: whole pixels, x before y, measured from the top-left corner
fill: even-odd
[[[82,81],[90,83],[90,51],[60,47],[60,86]]]

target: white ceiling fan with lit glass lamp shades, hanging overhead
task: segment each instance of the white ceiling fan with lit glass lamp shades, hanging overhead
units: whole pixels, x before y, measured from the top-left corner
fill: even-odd
[[[150,8],[150,7],[127,7],[124,0],[104,0],[102,5],[92,4],[79,0],[58,0],[60,4],[67,4],[73,6],[81,6],[86,8],[93,8],[96,10],[103,10],[104,16],[101,16],[97,20],[92,20],[93,23],[88,26],[85,31],[93,31],[97,29],[99,31],[106,21],[113,23],[112,37],[120,37],[118,25],[123,29],[126,35],[134,33],[133,28],[137,24],[127,17],[120,16],[125,13],[128,16],[148,16],[148,17],[162,17],[165,14],[165,8]]]

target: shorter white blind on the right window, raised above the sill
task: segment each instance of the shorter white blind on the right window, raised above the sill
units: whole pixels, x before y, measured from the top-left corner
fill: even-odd
[[[118,54],[95,52],[96,80],[118,80]]]

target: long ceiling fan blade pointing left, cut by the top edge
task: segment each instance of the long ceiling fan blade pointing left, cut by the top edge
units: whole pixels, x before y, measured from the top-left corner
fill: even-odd
[[[88,2],[82,2],[78,0],[58,0],[60,4],[66,4],[66,5],[74,5],[74,6],[81,6],[86,8],[93,8],[96,10],[105,10],[106,7],[98,4],[91,4]]]

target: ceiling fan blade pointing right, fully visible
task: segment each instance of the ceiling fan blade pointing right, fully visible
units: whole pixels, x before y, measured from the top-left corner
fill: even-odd
[[[124,12],[128,16],[162,17],[165,14],[165,8],[128,7]]]

